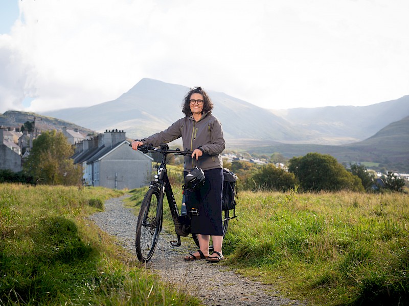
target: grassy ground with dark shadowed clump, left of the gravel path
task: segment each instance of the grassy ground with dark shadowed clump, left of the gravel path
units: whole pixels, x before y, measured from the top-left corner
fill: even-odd
[[[0,304],[197,305],[163,285],[86,216],[104,188],[0,185]]]

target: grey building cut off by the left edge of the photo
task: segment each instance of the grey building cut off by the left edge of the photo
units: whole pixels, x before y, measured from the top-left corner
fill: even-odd
[[[10,140],[4,139],[4,130],[0,129],[0,169],[13,172],[21,171],[20,147]]]

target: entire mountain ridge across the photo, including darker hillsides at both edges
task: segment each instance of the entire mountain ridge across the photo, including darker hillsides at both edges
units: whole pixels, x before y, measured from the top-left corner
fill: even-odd
[[[186,86],[142,79],[112,101],[38,115],[9,111],[0,115],[0,125],[5,125],[8,116],[21,117],[19,124],[11,126],[20,126],[37,116],[42,118],[38,124],[49,122],[49,127],[55,124],[61,129],[64,125],[87,133],[118,129],[124,130],[128,138],[137,139],[162,131],[181,118],[181,104],[188,92]],[[409,171],[406,132],[409,131],[409,95],[367,107],[286,110],[287,114],[281,117],[225,93],[211,90],[208,93],[214,102],[213,114],[223,124],[227,148],[251,153],[280,152],[287,158],[315,151],[330,154],[340,162],[373,162]],[[400,119],[391,121],[396,118]],[[53,123],[59,119],[60,122]],[[371,129],[375,131],[372,133]],[[356,137],[357,130],[365,130],[360,139]],[[367,135],[368,131],[372,134]]]

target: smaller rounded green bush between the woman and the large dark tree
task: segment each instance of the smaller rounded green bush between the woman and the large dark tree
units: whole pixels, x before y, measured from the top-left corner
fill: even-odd
[[[296,176],[277,168],[273,164],[264,165],[247,178],[250,189],[287,191],[296,185]]]

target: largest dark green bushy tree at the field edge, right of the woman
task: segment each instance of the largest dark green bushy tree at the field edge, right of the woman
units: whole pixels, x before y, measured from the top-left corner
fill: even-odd
[[[314,152],[304,157],[293,157],[289,161],[288,171],[296,175],[304,190],[364,190],[359,178],[330,155]]]

